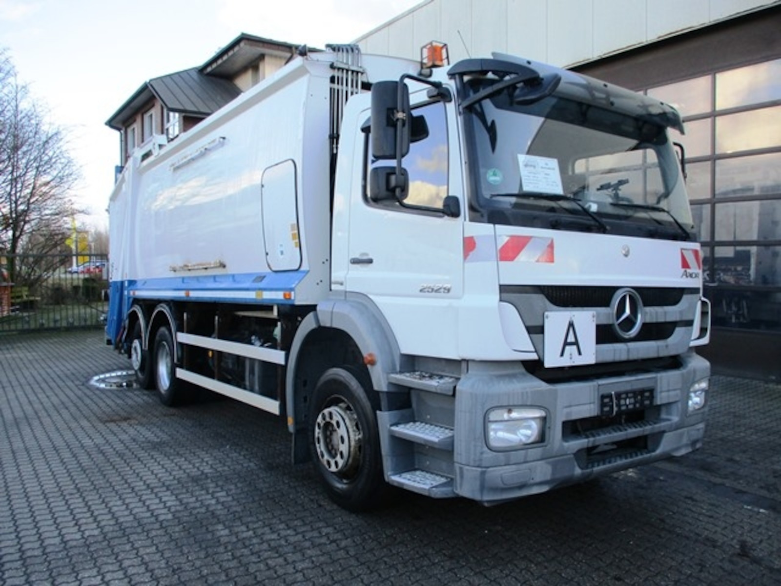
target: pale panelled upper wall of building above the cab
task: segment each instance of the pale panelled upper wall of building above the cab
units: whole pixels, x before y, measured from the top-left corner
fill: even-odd
[[[725,20],[778,0],[429,0],[356,42],[363,52],[419,59],[448,43],[451,63],[508,52],[572,66]]]

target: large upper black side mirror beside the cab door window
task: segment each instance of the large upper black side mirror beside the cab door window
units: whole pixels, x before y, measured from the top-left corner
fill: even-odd
[[[399,127],[401,131],[399,132]],[[372,156],[378,160],[400,158],[409,152],[412,114],[409,89],[398,81],[377,81],[372,86]]]

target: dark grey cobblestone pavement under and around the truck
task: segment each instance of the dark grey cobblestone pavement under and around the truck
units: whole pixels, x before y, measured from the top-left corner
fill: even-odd
[[[680,459],[357,516],[276,417],[87,385],[127,367],[98,331],[0,337],[0,584],[781,584],[781,385],[715,377]]]

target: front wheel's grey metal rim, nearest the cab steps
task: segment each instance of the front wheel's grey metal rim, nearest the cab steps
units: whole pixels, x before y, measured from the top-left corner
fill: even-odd
[[[320,411],[315,421],[315,447],[326,470],[343,479],[352,477],[358,470],[362,443],[358,417],[344,399]]]

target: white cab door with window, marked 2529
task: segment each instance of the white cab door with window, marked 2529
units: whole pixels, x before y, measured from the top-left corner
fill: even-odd
[[[425,99],[425,92],[422,98]],[[413,114],[426,119],[426,136],[414,140],[402,165],[408,173],[407,205],[441,209],[445,196],[456,195],[463,202],[461,166],[454,116],[443,102],[423,102]],[[364,119],[369,117],[366,111]],[[451,140],[448,141],[448,131]],[[372,161],[369,130],[362,137],[363,169],[360,185],[353,185],[349,220],[346,289],[368,295],[383,311],[397,334],[402,352],[426,346],[432,349],[452,328],[457,339],[455,308],[447,299],[462,296],[463,204],[458,217],[411,209],[392,199],[371,202],[367,195],[373,166],[393,163]],[[456,151],[456,152],[453,152]],[[358,181],[358,173],[354,175]],[[440,331],[423,327],[440,323]],[[413,333],[414,332],[414,333]],[[407,343],[405,343],[407,342]]]

